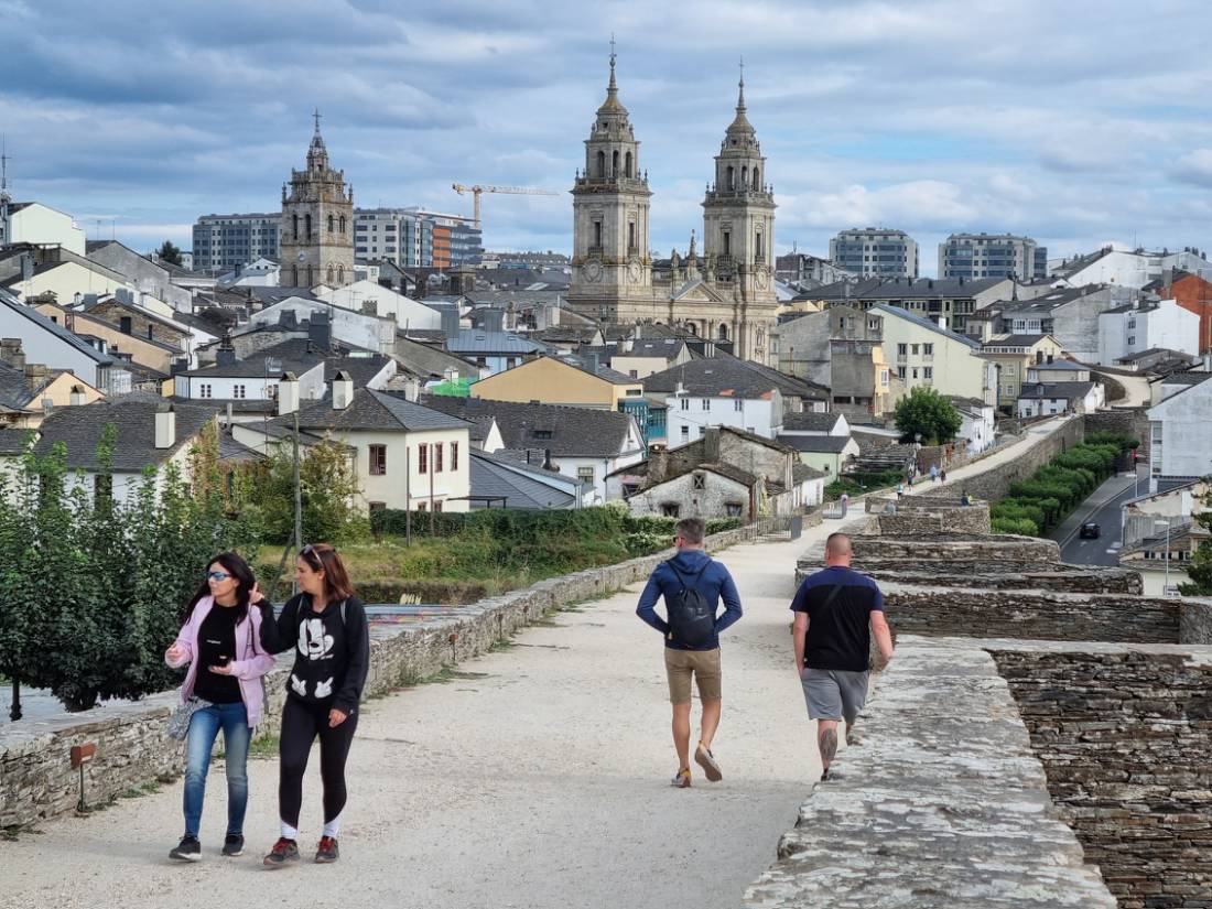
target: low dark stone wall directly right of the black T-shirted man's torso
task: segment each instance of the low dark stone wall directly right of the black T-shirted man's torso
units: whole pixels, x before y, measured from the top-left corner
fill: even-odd
[[[1040,590],[882,587],[888,623],[901,634],[1179,642],[1176,600]]]

